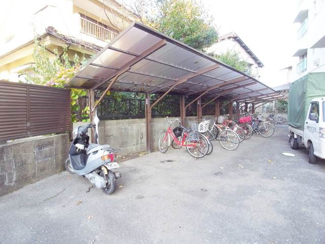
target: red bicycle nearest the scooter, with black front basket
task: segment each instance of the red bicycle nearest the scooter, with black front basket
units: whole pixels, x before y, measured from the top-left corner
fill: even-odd
[[[168,117],[166,117],[165,120],[167,118]],[[172,130],[171,126],[175,121],[179,122],[179,127]],[[207,155],[209,151],[209,141],[204,135],[201,135],[197,131],[186,129],[182,126],[181,120],[178,118],[170,120],[168,124],[167,130],[164,130],[159,135],[158,147],[161,153],[166,153],[171,145],[172,138],[173,143],[179,147],[185,146],[188,153],[194,158],[203,158]],[[177,135],[175,135],[174,131]]]

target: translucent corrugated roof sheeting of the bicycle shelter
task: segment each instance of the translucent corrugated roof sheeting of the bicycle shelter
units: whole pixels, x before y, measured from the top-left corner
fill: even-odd
[[[161,40],[166,40],[164,45]],[[155,44],[163,44],[164,46],[157,46]],[[155,45],[155,46],[154,46]],[[155,47],[152,49],[151,47]],[[112,50],[115,49],[115,50]],[[137,58],[137,55],[146,52],[148,56],[142,57],[142,60]],[[127,54],[126,54],[127,53]],[[148,60],[152,59],[152,60]],[[132,63],[132,60],[137,62]],[[80,87],[97,87],[104,77],[111,77],[118,70],[106,69],[102,67],[91,66],[91,63],[108,66],[120,69],[127,63],[131,66],[129,72],[121,75],[117,83],[113,85],[117,90],[140,90],[141,92],[163,92],[175,84],[177,80],[184,75],[195,75],[194,72],[200,71],[204,68],[219,64],[219,68],[206,72],[205,74],[194,76],[188,79],[183,84],[174,87],[172,92],[184,93],[186,95],[194,94],[195,92],[202,93],[209,86],[221,84],[225,81],[230,81],[240,77],[245,77],[247,80],[236,83],[237,85],[247,84],[256,79],[248,75],[236,71],[217,60],[200,53],[199,51],[190,48],[174,39],[164,36],[161,33],[150,29],[149,27],[140,23],[132,23],[123,32],[121,32],[104,51],[99,52],[88,63],[88,67],[81,69],[69,82],[69,86]],[[81,77],[91,77],[98,80],[80,79]],[[167,77],[167,78],[166,78]],[[213,78],[211,78],[213,77]],[[105,87],[109,84],[102,84]],[[138,87],[140,86],[140,88]],[[234,85],[223,86],[218,89],[211,90],[209,94],[213,95],[221,90],[229,87],[236,87]],[[251,85],[249,88],[253,90],[263,89],[267,87],[259,82],[256,85]],[[268,87],[269,88],[269,87]],[[246,92],[247,88],[238,88],[238,93]],[[194,91],[194,92],[193,92]],[[271,88],[266,89],[263,93],[272,92]],[[233,95],[231,91],[224,96]],[[252,93],[253,94],[253,93]],[[209,95],[210,96],[210,95]]]

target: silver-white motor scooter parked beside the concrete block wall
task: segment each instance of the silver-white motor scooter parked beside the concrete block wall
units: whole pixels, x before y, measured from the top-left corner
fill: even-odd
[[[106,194],[112,194],[116,189],[116,179],[121,177],[120,172],[113,172],[119,168],[116,163],[114,149],[110,145],[90,143],[88,129],[92,125],[80,126],[74,137],[69,158],[66,160],[66,170],[72,174],[84,175],[96,188]]]

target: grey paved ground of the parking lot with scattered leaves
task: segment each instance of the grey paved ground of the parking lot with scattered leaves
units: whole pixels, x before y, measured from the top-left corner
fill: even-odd
[[[110,196],[50,176],[0,197],[0,242],[325,243],[325,163],[287,141],[277,126],[200,160],[185,148],[128,160]]]

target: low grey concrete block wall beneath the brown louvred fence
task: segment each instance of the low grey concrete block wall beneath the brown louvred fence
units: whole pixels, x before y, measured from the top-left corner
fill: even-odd
[[[68,134],[0,145],[0,196],[64,170],[69,148]]]

